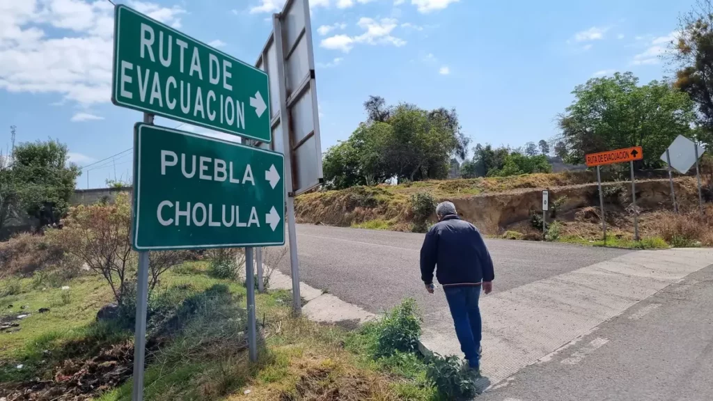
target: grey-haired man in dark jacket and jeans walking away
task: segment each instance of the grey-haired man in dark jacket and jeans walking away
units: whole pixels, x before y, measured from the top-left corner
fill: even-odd
[[[468,366],[478,372],[482,338],[478,297],[481,287],[486,294],[493,290],[493,260],[481,233],[458,218],[453,203],[438,204],[436,217],[438,223],[426,233],[421,247],[421,280],[434,293],[434,268],[438,266],[436,278],[446,293],[461,351]]]

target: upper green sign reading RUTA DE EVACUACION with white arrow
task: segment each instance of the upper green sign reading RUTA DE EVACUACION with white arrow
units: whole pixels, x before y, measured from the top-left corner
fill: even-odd
[[[264,142],[267,74],[127,6],[114,15],[111,101]]]

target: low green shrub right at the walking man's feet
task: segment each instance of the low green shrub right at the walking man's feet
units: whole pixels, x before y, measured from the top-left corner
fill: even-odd
[[[478,395],[473,372],[463,370],[460,358],[455,355],[431,357],[426,377],[446,400],[471,400]]]

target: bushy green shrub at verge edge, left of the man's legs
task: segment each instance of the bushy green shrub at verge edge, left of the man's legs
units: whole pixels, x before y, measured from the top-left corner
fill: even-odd
[[[416,300],[408,298],[386,313],[376,324],[376,357],[396,352],[416,352],[421,335],[421,319],[416,315]]]

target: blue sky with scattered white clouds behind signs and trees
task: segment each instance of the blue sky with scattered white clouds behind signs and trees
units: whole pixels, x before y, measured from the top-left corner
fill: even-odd
[[[282,0],[118,1],[250,64]],[[312,0],[322,146],[349,136],[362,103],[455,107],[474,143],[555,136],[555,116],[593,76],[672,75],[660,59],[694,0]],[[0,145],[56,138],[79,166],[133,143],[136,111],[113,106],[107,0],[0,0]],[[179,123],[157,119],[160,125]],[[200,128],[182,126],[201,132]],[[128,178],[131,153],[78,187]],[[116,167],[115,167],[116,165]],[[87,181],[88,176],[88,181]]]

